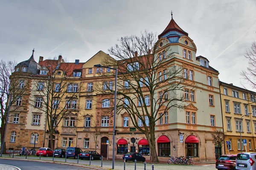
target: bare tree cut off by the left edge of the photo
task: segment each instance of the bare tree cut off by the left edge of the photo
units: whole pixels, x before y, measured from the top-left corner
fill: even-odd
[[[6,122],[9,119],[7,118],[9,102],[11,102],[10,105],[12,107],[9,113],[9,117],[11,117],[13,116],[13,112],[18,111],[19,108],[22,107],[21,101],[26,97],[28,92],[29,83],[25,81],[24,75],[19,75],[14,72],[16,64],[15,61],[0,61],[0,135],[1,144],[4,144],[3,153],[6,152],[6,145],[3,141],[3,137],[6,132]],[[12,95],[11,101],[10,95]]]

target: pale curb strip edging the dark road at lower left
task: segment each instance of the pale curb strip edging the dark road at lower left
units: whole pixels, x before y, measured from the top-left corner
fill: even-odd
[[[35,159],[18,159],[18,158],[5,158],[5,157],[0,157],[0,159],[8,159],[8,160],[21,160],[21,161],[35,161],[35,162],[47,162],[47,163],[52,163],[52,164],[65,164],[65,165],[73,165],[76,167],[85,167],[85,168],[89,168],[92,170],[109,170],[109,169],[104,169],[103,167],[95,167],[93,165],[87,166],[85,164],[75,164],[75,163],[66,163],[66,162],[59,162],[59,161],[43,161],[43,160],[35,160]],[[11,165],[9,165],[11,166]],[[15,167],[17,168],[17,167]],[[18,170],[20,170],[20,168],[18,168]]]

